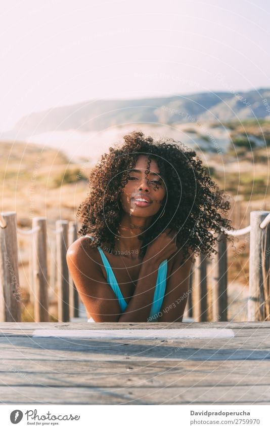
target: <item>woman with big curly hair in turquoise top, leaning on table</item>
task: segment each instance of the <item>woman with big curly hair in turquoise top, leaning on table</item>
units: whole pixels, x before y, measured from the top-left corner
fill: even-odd
[[[88,322],[182,322],[192,257],[232,228],[218,213],[230,204],[194,151],[141,131],[124,141],[89,176],[68,267]]]

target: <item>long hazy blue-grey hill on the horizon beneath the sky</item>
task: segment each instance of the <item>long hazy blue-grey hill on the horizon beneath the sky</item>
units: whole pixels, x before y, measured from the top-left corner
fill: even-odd
[[[130,100],[89,100],[24,116],[2,139],[25,138],[52,131],[93,132],[126,124],[229,122],[269,116],[270,89],[206,92]]]

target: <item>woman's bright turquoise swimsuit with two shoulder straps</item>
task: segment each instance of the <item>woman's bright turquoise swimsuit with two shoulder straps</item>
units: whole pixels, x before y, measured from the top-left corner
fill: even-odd
[[[89,236],[89,234],[86,234],[85,236],[87,236],[93,240],[93,238],[91,236]],[[100,252],[104,267],[106,269],[107,283],[110,284],[114,294],[118,298],[121,312],[124,312],[124,310],[127,306],[127,303],[126,303],[126,301],[125,301],[125,299],[121,293],[121,290],[120,290],[119,285],[117,283],[117,280],[115,278],[114,272],[111,268],[111,265],[110,265],[106,255],[104,254],[103,250],[99,246],[98,246],[98,250]],[[149,315],[149,321],[151,321],[151,322],[157,320],[158,313],[160,312],[160,309],[162,306],[162,302],[163,302],[164,294],[165,294],[165,290],[166,290],[167,266],[168,266],[167,260],[164,260],[164,261],[162,261],[162,263],[160,263],[160,265],[158,267],[157,283],[156,283],[153,303],[152,303],[152,307],[151,307],[150,315]],[[93,318],[89,318],[88,323],[90,323],[90,322],[95,322],[95,321],[93,320]]]

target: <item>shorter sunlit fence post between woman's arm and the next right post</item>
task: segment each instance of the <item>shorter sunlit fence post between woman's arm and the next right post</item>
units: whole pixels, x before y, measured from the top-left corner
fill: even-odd
[[[194,321],[201,322],[207,321],[207,269],[206,269],[207,257],[200,254],[196,257],[195,262],[195,273],[194,273]]]

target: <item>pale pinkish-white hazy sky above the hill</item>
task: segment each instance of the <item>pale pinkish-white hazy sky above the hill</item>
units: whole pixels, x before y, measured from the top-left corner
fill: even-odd
[[[90,99],[270,87],[267,0],[0,4],[0,131]]]

